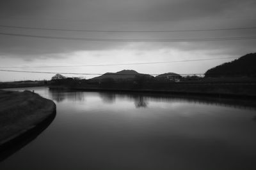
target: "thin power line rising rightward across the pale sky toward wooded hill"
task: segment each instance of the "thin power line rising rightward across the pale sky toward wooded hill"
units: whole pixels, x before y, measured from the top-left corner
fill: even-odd
[[[97,67],[97,66],[128,66],[128,65],[143,65],[143,64],[164,64],[173,62],[193,62],[203,60],[222,60],[222,59],[236,59],[237,57],[223,57],[215,59],[195,59],[195,60],[175,60],[163,62],[136,62],[136,63],[122,63],[122,64],[93,64],[93,65],[74,65],[74,66],[0,66],[0,68],[48,68],[48,67]]]

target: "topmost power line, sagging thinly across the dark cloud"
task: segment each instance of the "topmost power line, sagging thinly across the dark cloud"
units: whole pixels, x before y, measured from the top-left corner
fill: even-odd
[[[200,32],[200,31],[232,31],[232,30],[248,30],[256,29],[256,27],[233,27],[233,28],[220,28],[220,29],[188,29],[188,30],[167,30],[167,31],[120,31],[120,30],[83,30],[83,29],[54,29],[42,27],[21,27],[13,25],[0,25],[0,27],[15,28],[15,29],[35,29],[47,31],[74,31],[74,32]]]

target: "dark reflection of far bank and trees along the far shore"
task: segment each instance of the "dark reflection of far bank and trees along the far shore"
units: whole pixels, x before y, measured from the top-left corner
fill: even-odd
[[[145,94],[145,93],[123,93],[123,92],[79,92],[70,90],[49,90],[50,98],[61,103],[69,101],[85,101],[88,93],[99,95],[100,99],[106,104],[114,104],[118,100],[129,100],[134,102],[136,108],[147,108],[150,102],[158,103],[195,103],[215,106],[224,106],[241,109],[255,109],[256,101],[239,99],[221,99],[214,97],[196,96],[173,96],[166,94]]]

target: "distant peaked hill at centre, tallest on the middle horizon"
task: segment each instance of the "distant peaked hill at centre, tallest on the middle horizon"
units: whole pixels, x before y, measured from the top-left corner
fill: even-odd
[[[149,74],[141,74],[134,70],[124,69],[124,70],[118,71],[116,73],[105,73],[105,74],[102,74],[101,76],[92,78],[91,80],[103,80],[106,78],[113,78],[114,80],[132,79],[132,78],[135,78],[135,76],[143,76],[143,75],[149,76]]]

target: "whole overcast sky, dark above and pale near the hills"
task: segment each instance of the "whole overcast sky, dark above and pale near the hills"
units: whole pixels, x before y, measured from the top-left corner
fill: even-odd
[[[173,31],[256,26],[255,0],[1,0],[0,25],[91,31]],[[1,34],[2,33],[2,34]],[[189,42],[111,42],[44,39],[3,34],[68,38],[195,39],[256,37],[256,29],[197,32],[76,32],[0,26],[0,69],[69,73],[205,73],[233,59],[165,64],[72,66],[241,57],[256,52],[256,39]],[[0,81],[43,80],[54,74],[0,71]],[[72,76],[72,75],[66,75]],[[73,75],[74,76],[74,75]],[[92,76],[86,76],[91,78]]]

